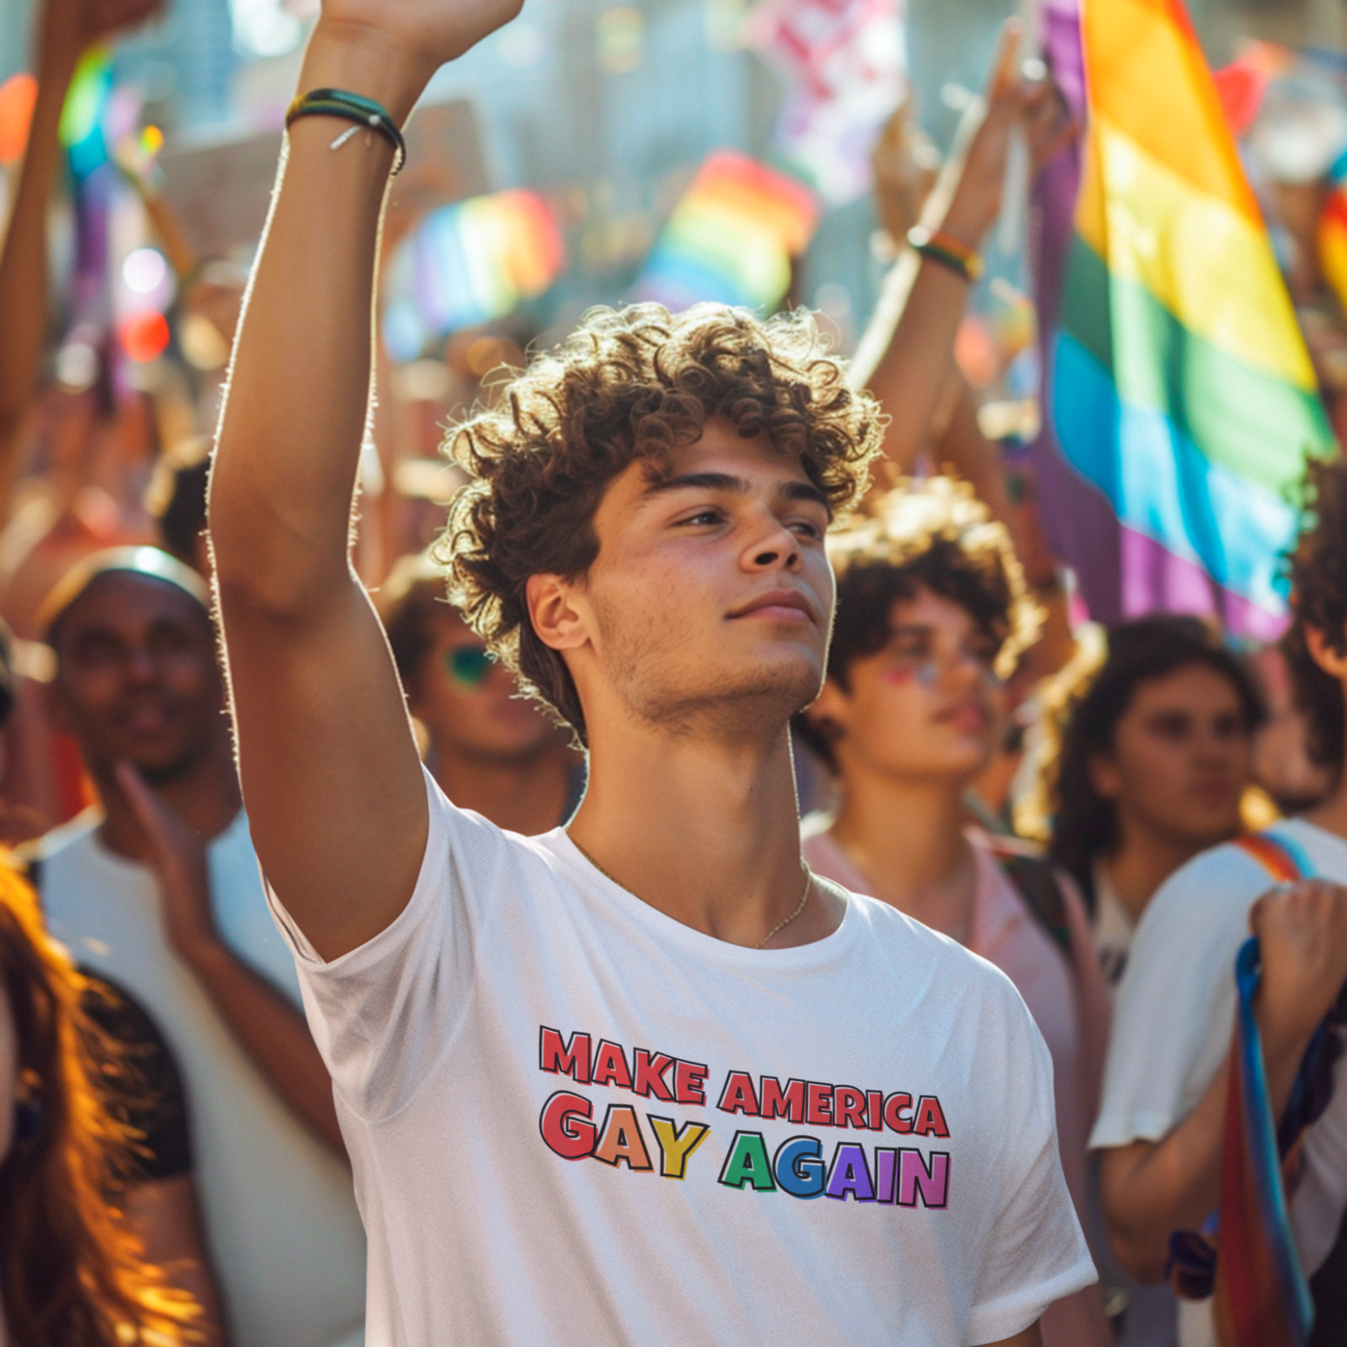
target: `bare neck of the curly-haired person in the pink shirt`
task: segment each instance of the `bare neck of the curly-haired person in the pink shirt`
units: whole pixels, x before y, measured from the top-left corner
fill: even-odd
[[[967,933],[975,884],[963,785],[849,772],[831,831],[873,897],[947,935]]]

